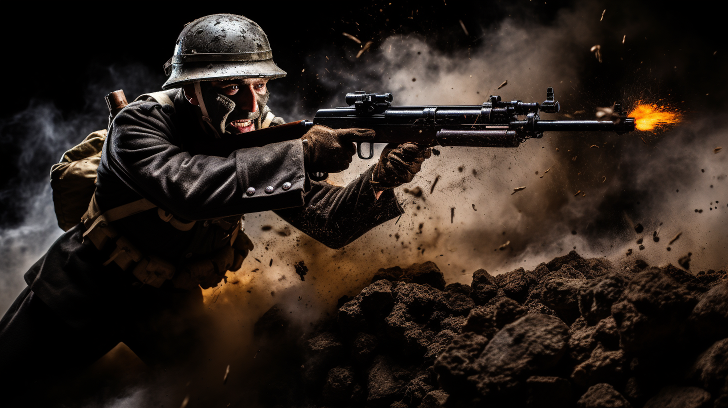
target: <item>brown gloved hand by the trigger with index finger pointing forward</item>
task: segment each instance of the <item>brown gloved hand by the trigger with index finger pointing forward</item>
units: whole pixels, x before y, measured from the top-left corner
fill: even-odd
[[[349,168],[357,152],[351,138],[373,138],[371,129],[331,129],[314,125],[301,140],[304,141],[304,166],[309,173],[337,173]]]

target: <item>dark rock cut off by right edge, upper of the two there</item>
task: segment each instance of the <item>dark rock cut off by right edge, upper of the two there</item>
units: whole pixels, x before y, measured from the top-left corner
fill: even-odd
[[[718,340],[728,337],[728,281],[713,288],[697,302],[689,317],[696,337]]]

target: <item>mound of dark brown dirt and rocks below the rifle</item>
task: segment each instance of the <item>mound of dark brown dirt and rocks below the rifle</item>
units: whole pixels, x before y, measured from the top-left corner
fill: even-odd
[[[379,270],[311,333],[280,319],[258,323],[287,356],[272,407],[728,407],[724,271],[571,251],[445,286],[426,262]]]

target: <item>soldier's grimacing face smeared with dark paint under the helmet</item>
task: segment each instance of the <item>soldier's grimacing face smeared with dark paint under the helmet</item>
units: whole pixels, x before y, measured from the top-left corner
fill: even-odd
[[[231,79],[227,81],[211,81],[213,89],[225,95],[235,103],[235,109],[229,116],[225,130],[239,134],[255,130],[253,119],[256,119],[259,110],[267,103],[268,79]]]

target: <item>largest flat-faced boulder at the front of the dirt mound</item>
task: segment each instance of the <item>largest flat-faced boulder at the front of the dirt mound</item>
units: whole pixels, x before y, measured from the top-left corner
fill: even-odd
[[[469,378],[483,396],[515,391],[526,378],[555,366],[566,351],[569,327],[553,316],[528,313],[498,331]]]

